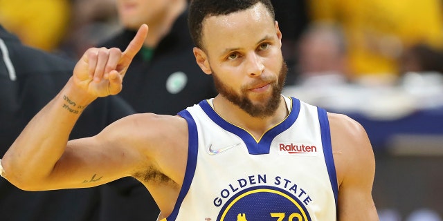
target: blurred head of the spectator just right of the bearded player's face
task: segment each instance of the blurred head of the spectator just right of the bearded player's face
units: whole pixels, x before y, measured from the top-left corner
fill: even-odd
[[[334,23],[311,23],[298,47],[298,84],[327,86],[346,83],[349,75],[343,32]]]

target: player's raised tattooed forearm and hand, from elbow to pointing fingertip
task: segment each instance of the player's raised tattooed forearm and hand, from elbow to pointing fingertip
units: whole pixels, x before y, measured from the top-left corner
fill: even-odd
[[[69,171],[57,171],[57,163],[64,152],[73,150],[72,147],[66,148],[69,134],[83,109],[97,97],[120,92],[126,70],[146,35],[147,26],[143,25],[124,52],[118,48],[87,50],[76,64],[66,86],[33,117],[3,156],[3,177],[26,190],[76,187],[68,181],[58,185],[50,182],[55,173],[64,173],[66,177],[76,173],[75,167]],[[94,148],[100,146],[94,139],[78,140],[71,146],[91,148],[89,152],[88,148],[81,148],[85,152],[79,155],[99,154],[94,153],[97,151]],[[90,180],[99,178],[92,175]]]

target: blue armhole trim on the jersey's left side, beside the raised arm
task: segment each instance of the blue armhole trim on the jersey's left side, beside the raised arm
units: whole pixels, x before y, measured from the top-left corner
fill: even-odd
[[[180,111],[178,115],[188,122],[188,161],[186,162],[185,178],[181,185],[179,197],[177,198],[177,202],[175,202],[174,210],[167,218],[168,221],[174,221],[177,219],[177,215],[179,215],[181,203],[185,199],[186,194],[188,194],[192,179],[194,179],[195,168],[197,167],[197,153],[199,152],[199,137],[194,118],[192,118],[191,114],[186,110]]]

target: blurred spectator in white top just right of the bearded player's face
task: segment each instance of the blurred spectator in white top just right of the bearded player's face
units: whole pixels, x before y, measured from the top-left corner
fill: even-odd
[[[284,93],[299,99],[333,108],[348,106],[355,91],[350,77],[347,41],[337,23],[318,21],[309,23],[295,47],[295,84],[284,87]],[[346,97],[346,99],[343,99]]]

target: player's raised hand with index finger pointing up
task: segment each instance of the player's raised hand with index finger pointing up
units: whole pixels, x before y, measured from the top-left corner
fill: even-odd
[[[143,24],[124,52],[118,48],[89,48],[75,65],[74,84],[93,97],[120,93],[123,77],[143,46],[147,30]]]

